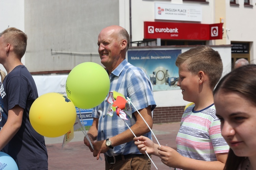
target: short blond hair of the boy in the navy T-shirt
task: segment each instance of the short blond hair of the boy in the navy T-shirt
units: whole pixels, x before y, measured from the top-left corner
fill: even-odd
[[[0,33],[3,36],[4,43],[13,46],[14,53],[22,58],[27,48],[27,35],[17,28],[11,27]]]

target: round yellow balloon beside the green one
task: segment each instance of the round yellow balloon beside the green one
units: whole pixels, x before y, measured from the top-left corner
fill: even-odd
[[[67,96],[54,92],[47,93],[33,102],[29,120],[39,134],[58,137],[66,134],[74,125],[76,109]]]

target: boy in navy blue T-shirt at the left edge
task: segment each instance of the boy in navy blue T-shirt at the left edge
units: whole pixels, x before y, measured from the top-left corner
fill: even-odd
[[[9,154],[19,170],[47,170],[44,137],[32,128],[29,109],[38,98],[37,87],[21,63],[27,35],[8,28],[0,33],[0,63],[7,71],[0,87],[0,151]]]

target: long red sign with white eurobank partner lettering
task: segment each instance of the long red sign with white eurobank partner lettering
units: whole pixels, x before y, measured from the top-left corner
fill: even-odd
[[[222,23],[144,22],[144,39],[222,39]]]

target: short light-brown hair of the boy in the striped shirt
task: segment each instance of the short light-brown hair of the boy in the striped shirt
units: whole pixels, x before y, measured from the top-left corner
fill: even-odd
[[[178,55],[176,66],[187,64],[187,69],[193,74],[203,71],[208,75],[210,87],[214,88],[222,76],[223,64],[218,51],[208,46],[197,46]]]

